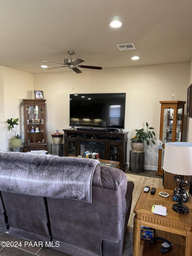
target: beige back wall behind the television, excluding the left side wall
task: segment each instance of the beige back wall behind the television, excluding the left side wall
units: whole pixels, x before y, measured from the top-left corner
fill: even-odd
[[[145,123],[155,128],[159,139],[159,101],[187,101],[190,63],[152,65],[144,67],[104,69],[101,71],[73,71],[65,73],[35,74],[34,90],[42,90],[46,99],[46,128],[48,150],[51,133],[69,128],[69,94],[126,92],[125,131],[129,139],[135,129],[145,128]],[[73,90],[74,87],[74,90]],[[185,108],[186,113],[186,108]],[[128,140],[128,158],[131,142]],[[157,170],[158,146],[145,146],[145,168]]]

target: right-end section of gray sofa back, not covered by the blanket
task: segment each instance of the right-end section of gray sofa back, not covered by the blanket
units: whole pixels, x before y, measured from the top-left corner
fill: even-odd
[[[92,203],[47,198],[53,242],[59,241],[63,250],[71,245],[74,255],[101,255],[102,240],[118,243],[123,239],[126,191],[127,177],[122,170],[98,167],[93,175]]]

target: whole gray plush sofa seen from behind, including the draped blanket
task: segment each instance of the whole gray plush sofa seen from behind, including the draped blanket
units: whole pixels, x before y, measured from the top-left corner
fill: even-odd
[[[98,160],[0,152],[0,231],[76,256],[121,256],[133,188]]]

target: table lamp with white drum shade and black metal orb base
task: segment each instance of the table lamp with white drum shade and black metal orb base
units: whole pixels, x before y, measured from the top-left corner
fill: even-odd
[[[189,192],[185,189],[190,184],[192,175],[192,143],[191,142],[168,142],[165,144],[163,170],[176,174],[173,191],[173,199],[177,203],[173,204],[173,210],[186,214],[189,208],[184,204],[189,200]],[[184,176],[185,179],[184,179]]]

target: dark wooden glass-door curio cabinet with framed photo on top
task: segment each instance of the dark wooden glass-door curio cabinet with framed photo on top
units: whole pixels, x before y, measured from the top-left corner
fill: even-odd
[[[23,99],[25,152],[31,150],[47,150],[45,101]]]

